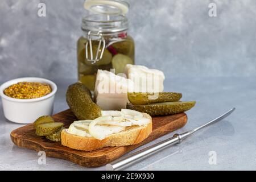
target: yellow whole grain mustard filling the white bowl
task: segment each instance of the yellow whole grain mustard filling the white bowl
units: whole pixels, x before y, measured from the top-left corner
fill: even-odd
[[[20,99],[39,98],[52,92],[49,84],[40,82],[18,82],[3,90],[6,96]]]

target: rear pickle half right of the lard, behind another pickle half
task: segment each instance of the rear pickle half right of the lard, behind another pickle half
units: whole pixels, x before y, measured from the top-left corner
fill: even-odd
[[[128,93],[128,99],[133,105],[152,104],[157,102],[176,102],[182,97],[181,93]]]

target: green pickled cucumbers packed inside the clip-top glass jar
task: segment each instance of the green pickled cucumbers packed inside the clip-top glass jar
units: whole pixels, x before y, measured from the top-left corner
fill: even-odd
[[[81,37],[77,42],[77,61],[78,61],[78,76],[79,81],[87,86],[90,90],[94,90],[96,82],[96,74],[98,69],[110,71],[115,69],[115,74],[123,73],[126,64],[134,64],[134,41],[130,36],[104,36],[106,41],[105,49],[103,44],[98,47],[99,41],[92,40],[92,57],[90,54],[90,44],[88,43],[88,60],[85,54],[85,45],[88,40]],[[99,50],[99,51],[98,51]],[[90,61],[100,57],[98,61]]]

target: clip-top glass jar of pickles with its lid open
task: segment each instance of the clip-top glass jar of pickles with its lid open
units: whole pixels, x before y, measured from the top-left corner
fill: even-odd
[[[98,14],[82,19],[84,34],[77,42],[79,81],[90,90],[94,90],[98,69],[123,73],[126,64],[134,64],[135,52],[134,40],[127,34],[128,20],[121,15],[127,13],[124,7],[128,8],[129,4],[115,1],[122,4],[115,3],[114,7],[108,4],[113,1],[105,0],[104,5],[97,4],[96,8],[96,2],[85,1],[85,8]]]

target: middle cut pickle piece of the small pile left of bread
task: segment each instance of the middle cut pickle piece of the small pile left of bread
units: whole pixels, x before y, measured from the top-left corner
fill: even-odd
[[[47,136],[47,135],[52,135],[59,131],[61,127],[63,127],[63,123],[44,123],[41,125],[38,125],[36,127],[36,135],[38,136]]]

